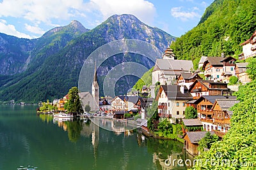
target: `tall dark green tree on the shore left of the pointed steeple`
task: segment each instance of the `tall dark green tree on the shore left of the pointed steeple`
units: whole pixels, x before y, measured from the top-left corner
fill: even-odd
[[[68,91],[68,97],[69,99],[67,103],[65,103],[65,109],[67,109],[68,112],[78,112],[78,113],[83,112],[77,87],[72,87]]]

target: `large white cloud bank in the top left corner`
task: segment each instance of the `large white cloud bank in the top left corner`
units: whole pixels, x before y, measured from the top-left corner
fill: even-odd
[[[3,0],[0,17],[26,18],[33,22],[51,25],[51,19],[67,19],[84,9],[83,0]],[[73,14],[72,14],[73,13]]]

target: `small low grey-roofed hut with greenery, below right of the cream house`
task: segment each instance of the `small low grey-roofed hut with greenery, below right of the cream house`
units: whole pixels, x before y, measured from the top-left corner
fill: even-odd
[[[183,133],[190,131],[201,131],[203,124],[197,118],[184,118],[182,119],[184,127],[182,128]]]

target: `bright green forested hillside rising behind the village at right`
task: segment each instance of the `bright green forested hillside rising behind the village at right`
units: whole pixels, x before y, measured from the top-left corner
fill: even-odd
[[[177,38],[171,48],[179,59],[192,59],[197,65],[200,57],[237,56],[239,44],[256,30],[256,4],[250,0],[215,0],[196,27]]]

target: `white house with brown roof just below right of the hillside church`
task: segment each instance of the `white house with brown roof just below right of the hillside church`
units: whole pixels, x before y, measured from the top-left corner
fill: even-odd
[[[186,85],[189,89],[196,79],[202,79],[198,73],[180,73],[177,78],[177,85]]]

